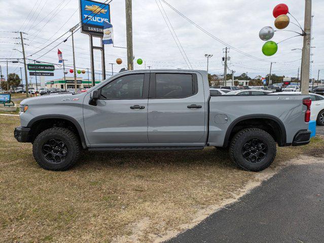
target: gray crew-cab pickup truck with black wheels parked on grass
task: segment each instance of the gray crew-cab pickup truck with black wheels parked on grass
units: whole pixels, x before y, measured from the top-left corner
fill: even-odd
[[[210,96],[199,70],[120,72],[85,93],[21,102],[14,135],[33,144],[47,170],[66,170],[83,149],[228,148],[249,171],[267,168],[278,146],[308,144],[309,96]],[[217,156],[217,154],[215,154]]]

